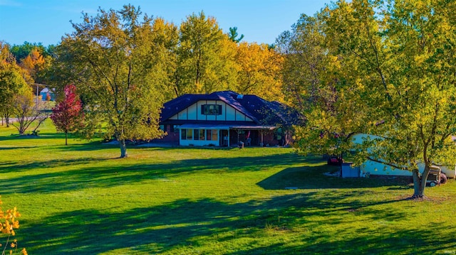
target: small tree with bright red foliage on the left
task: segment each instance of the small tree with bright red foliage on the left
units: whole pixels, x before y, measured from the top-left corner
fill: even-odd
[[[51,119],[57,131],[65,133],[65,145],[68,145],[68,132],[83,128],[83,106],[76,94],[75,85],[65,86],[65,98],[52,109]]]

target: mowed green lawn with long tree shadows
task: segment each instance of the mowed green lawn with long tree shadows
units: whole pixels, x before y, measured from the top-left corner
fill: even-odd
[[[447,254],[456,183],[341,179],[290,148],[139,148],[0,127],[3,209],[28,254]],[[293,189],[287,189],[293,188]],[[294,189],[296,188],[296,189]],[[6,240],[6,237],[1,239]]]

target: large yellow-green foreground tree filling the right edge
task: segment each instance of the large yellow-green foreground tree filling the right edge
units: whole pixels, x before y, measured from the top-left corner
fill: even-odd
[[[358,163],[370,158],[408,169],[413,198],[423,197],[432,164],[456,163],[450,156],[456,152],[450,136],[456,130],[456,22],[450,10],[452,1],[353,0],[319,13],[324,56],[333,65],[316,76],[317,85],[334,97],[326,110],[326,103],[310,104],[304,129],[314,135],[301,135],[301,148],[350,148]],[[305,93],[312,89],[310,82],[303,86]],[[348,132],[337,129],[341,123]],[[350,139],[356,131],[375,136],[356,146]]]

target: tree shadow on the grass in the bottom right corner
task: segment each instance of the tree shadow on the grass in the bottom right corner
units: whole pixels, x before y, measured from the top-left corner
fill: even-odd
[[[417,229],[398,229],[381,236],[360,233],[360,237],[347,238],[343,241],[334,241],[331,237],[323,239],[304,237],[300,240],[308,242],[304,245],[282,242],[227,254],[454,254],[456,251],[454,239],[448,236],[437,237],[438,232],[439,227],[429,224]],[[452,232],[452,235],[454,234],[456,232]],[[318,239],[318,242],[315,239]]]

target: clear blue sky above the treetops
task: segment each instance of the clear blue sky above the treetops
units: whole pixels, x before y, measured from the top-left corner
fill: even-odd
[[[124,4],[140,6],[149,16],[162,17],[176,25],[192,13],[204,11],[217,19],[226,33],[237,26],[244,41],[274,43],[283,31],[298,21],[301,13],[314,15],[329,0],[0,0],[0,40],[6,43],[57,44],[81,23],[81,12],[96,15],[102,9],[119,10]]]

